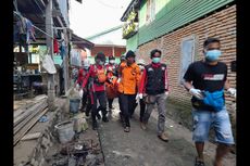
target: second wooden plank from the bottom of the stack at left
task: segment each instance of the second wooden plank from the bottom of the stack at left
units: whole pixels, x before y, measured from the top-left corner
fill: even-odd
[[[48,106],[47,102],[42,103],[41,105],[39,105],[39,107],[36,107],[35,112],[33,112],[32,114],[29,114],[29,116],[27,116],[25,119],[23,119],[16,126],[14,126],[14,135],[18,130],[21,130],[25,126],[25,124],[27,124],[30,119],[33,119],[37,114],[39,114],[39,112],[41,112],[42,110],[45,110],[47,106]]]

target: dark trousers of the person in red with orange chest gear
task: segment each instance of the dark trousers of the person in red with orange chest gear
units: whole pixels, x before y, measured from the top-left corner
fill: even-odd
[[[97,92],[91,92],[92,93],[92,99],[93,99],[93,104],[92,104],[92,122],[97,122],[97,114],[98,114],[98,107],[97,107],[97,102],[99,101],[100,103],[100,108],[102,112],[102,116],[107,115],[107,95],[105,91],[97,91]]]

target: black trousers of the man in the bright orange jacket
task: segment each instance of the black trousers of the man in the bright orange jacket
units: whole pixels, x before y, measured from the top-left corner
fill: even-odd
[[[129,117],[134,113],[135,104],[136,94],[121,94],[121,108],[126,127],[130,127]]]

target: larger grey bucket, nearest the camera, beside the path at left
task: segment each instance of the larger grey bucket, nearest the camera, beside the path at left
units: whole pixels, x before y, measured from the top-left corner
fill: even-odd
[[[59,133],[59,140],[61,143],[66,143],[74,138],[74,129],[73,129],[73,122],[62,122],[54,126]]]

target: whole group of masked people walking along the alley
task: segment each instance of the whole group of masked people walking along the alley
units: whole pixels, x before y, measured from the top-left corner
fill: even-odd
[[[234,144],[224,91],[236,95],[236,90],[229,88],[226,64],[218,62],[222,54],[220,49],[218,39],[207,39],[203,44],[204,59],[191,63],[184,76],[183,85],[192,95],[193,141],[198,152],[196,166],[204,166],[203,146],[210,128],[214,128],[218,142],[215,166],[222,166],[223,156],[228,152],[229,145]],[[167,66],[161,62],[161,56],[162,51],[154,49],[150,52],[151,62],[146,64],[142,59],[135,61],[136,54],[129,50],[121,56],[118,65],[115,64],[114,56],[109,56],[109,64],[105,65],[102,52],[96,55],[95,64],[90,65],[88,60],[83,62],[75,85],[80,85],[84,90],[83,111],[87,116],[91,111],[92,129],[98,128],[97,118],[109,122],[108,111],[112,112],[113,100],[118,98],[120,117],[125,132],[130,131],[129,120],[137,105],[140,106],[139,119],[143,130],[157,107],[158,137],[162,141],[168,141],[165,132],[165,104],[170,84]]]

